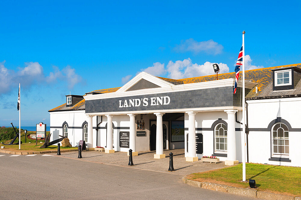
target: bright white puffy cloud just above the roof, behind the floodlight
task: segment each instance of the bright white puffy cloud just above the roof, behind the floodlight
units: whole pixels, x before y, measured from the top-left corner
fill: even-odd
[[[167,64],[168,77],[172,79],[182,79],[197,76],[206,76],[214,74],[214,62],[205,62],[204,64],[193,64],[191,59],[184,59],[183,61],[169,61]],[[229,67],[227,64],[219,63],[219,73],[228,73]]]

